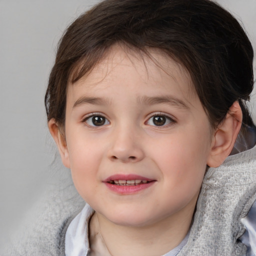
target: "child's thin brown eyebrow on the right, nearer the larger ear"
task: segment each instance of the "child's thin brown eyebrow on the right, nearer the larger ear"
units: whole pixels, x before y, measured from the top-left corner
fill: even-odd
[[[177,106],[179,108],[189,109],[188,105],[184,101],[171,95],[153,97],[142,96],[137,98],[137,102],[145,105],[166,103],[172,106]]]

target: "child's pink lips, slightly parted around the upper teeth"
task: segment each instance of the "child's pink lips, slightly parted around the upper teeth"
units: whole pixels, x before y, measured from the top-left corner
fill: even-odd
[[[111,180],[132,180],[132,179],[141,179],[148,181],[147,183],[141,183],[139,185],[115,185],[112,183],[109,183]],[[134,194],[136,192],[139,192],[141,190],[144,190],[150,186],[152,186],[155,183],[156,180],[139,176],[136,174],[114,174],[109,177],[107,177],[103,182],[105,185],[112,190],[115,193],[118,194]]]

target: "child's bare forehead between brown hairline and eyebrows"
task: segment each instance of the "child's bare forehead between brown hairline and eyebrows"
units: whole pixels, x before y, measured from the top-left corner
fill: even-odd
[[[154,88],[162,89],[163,93],[179,91],[188,101],[197,97],[188,71],[163,51],[147,49],[142,52],[123,49],[120,45],[112,46],[104,58],[78,81],[69,82],[67,97],[81,86],[86,93],[129,86],[133,87],[134,94],[143,87],[145,94],[150,94]]]

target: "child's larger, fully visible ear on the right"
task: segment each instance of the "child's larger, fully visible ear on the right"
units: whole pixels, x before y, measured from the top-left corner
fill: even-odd
[[[239,103],[235,101],[229,108],[226,117],[221,121],[214,132],[210,154],[207,158],[208,166],[219,166],[230,154],[239,133],[241,123],[242,111]]]

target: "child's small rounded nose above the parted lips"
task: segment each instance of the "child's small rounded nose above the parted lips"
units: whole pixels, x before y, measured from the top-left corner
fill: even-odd
[[[111,161],[137,162],[143,159],[141,137],[134,129],[120,128],[112,134],[108,158]]]

